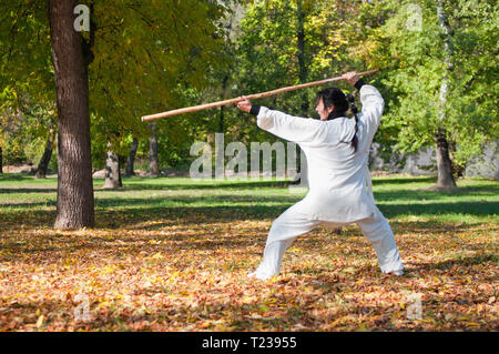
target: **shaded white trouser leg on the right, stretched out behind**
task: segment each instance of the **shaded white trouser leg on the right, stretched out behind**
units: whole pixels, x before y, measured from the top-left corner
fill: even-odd
[[[373,244],[378,257],[381,272],[397,272],[404,270],[404,264],[395,243],[394,232],[381,212],[376,208],[374,218],[357,222],[367,240]]]

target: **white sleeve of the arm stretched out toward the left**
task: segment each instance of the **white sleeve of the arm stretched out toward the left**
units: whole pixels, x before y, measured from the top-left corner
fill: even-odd
[[[261,107],[256,117],[256,124],[261,129],[282,139],[302,144],[323,141],[327,134],[324,123],[316,119],[294,117],[269,110],[266,107]]]

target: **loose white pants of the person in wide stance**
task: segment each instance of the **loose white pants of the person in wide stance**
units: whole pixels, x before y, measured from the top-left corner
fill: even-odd
[[[326,224],[340,227],[348,224],[309,220],[301,212],[301,208],[294,208],[295,205],[286,210],[272,223],[262,263],[249,276],[264,280],[278,274],[286,249],[292,245],[297,236],[312,231],[317,225]],[[381,272],[390,273],[404,270],[391,227],[378,208],[375,208],[373,218],[363,219],[355,223],[373,244]]]

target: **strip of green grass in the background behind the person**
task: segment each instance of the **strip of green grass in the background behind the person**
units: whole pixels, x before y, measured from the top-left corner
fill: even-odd
[[[376,203],[388,219],[438,222],[492,222],[499,212],[499,183],[465,179],[456,191],[429,191],[431,178],[375,178]],[[187,178],[130,178],[120,190],[102,190],[94,180],[96,211],[120,210],[147,215],[161,209],[231,210],[248,216],[277,216],[302,199],[306,191],[289,189],[285,181],[195,181]],[[35,180],[28,175],[0,176],[2,213],[53,211],[57,178]]]

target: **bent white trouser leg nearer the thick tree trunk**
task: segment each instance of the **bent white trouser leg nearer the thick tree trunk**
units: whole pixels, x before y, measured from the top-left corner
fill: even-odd
[[[279,273],[284,252],[304,233],[312,231],[319,221],[308,220],[305,213],[301,212],[301,203],[291,206],[271,226],[267,243],[264,250],[262,263],[249,277],[259,280],[269,279]]]

